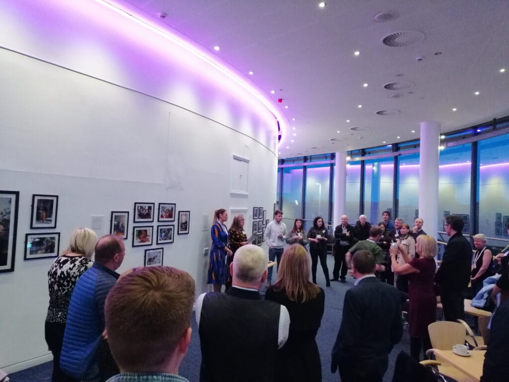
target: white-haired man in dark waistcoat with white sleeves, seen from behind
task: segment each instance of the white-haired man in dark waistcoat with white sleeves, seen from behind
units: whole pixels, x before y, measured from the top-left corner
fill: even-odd
[[[288,339],[286,307],[261,299],[268,257],[257,245],[243,245],[230,264],[232,287],[196,300],[202,365],[200,381],[273,380],[277,350]],[[225,365],[225,357],[234,357]]]

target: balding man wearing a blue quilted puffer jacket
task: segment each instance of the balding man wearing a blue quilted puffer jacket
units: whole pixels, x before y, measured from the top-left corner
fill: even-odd
[[[119,236],[101,237],[96,244],[94,265],[76,282],[60,356],[62,371],[73,378],[104,381],[119,372],[102,332],[104,302],[120,277],[116,270],[124,261],[125,250]]]

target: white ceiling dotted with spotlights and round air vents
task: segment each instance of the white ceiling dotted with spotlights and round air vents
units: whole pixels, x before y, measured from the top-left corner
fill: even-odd
[[[282,98],[291,127],[281,158],[417,139],[421,121],[447,132],[509,115],[508,0],[329,0],[323,9],[315,0],[121,1],[212,52],[219,45],[218,57]],[[395,17],[377,22],[379,12]],[[424,39],[382,44],[400,31]],[[394,81],[415,85],[383,88]]]

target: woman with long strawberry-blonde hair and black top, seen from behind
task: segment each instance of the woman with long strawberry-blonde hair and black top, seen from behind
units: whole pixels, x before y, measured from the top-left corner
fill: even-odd
[[[307,251],[290,245],[281,257],[278,280],[265,299],[284,305],[290,313],[288,341],[278,353],[276,380],[311,382],[322,380],[320,353],[315,340],[322,321],[325,294],[309,281]]]

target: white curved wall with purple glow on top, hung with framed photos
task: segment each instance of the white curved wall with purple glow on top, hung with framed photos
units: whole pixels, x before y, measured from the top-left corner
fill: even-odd
[[[91,215],[131,211],[120,271],[143,265],[132,248],[134,202],[190,210],[190,234],[164,245],[164,264],[207,289],[216,208],[275,202],[276,124],[227,75],[92,1],[0,2],[0,189],[18,190],[15,270],[0,274],[0,368],[44,362],[47,270],[24,261],[32,194],[59,195],[61,249]],[[248,158],[249,195],[230,193],[232,154]],[[153,224],[154,228],[157,222]]]

